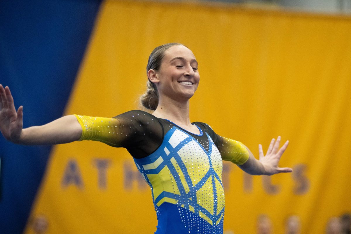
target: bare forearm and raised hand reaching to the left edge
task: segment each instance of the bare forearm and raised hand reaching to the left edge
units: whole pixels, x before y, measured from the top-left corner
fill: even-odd
[[[42,126],[23,128],[23,107],[16,111],[10,89],[0,85],[0,131],[5,139],[21,145],[53,145],[79,140],[82,127],[74,115]]]

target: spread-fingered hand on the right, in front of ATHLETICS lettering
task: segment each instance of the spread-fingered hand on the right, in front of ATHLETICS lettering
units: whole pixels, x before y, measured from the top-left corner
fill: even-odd
[[[280,158],[282,157],[286,147],[289,145],[289,141],[286,141],[284,145],[278,150],[280,143],[280,136],[277,140],[272,139],[266,155],[263,154],[262,145],[258,145],[259,152],[259,161],[264,167],[266,175],[273,175],[281,172],[292,172],[292,169],[289,167],[278,167]]]

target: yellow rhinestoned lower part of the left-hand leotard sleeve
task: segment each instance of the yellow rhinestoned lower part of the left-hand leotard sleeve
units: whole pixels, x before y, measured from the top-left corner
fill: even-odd
[[[123,134],[120,131],[120,123],[117,119],[85,115],[74,116],[82,127],[82,135],[78,141],[100,141],[110,146],[123,147],[121,144]]]

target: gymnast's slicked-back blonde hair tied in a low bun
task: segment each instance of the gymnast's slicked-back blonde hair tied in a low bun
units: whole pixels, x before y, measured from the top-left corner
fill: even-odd
[[[154,48],[149,56],[149,60],[146,66],[146,72],[150,69],[158,71],[161,66],[161,62],[163,57],[165,56],[165,52],[167,49],[171,48],[172,46],[184,46],[180,43],[167,43],[161,46]],[[141,105],[145,108],[154,111],[158,106],[158,92],[156,85],[152,83],[150,80],[146,82],[147,90],[146,93],[140,96]]]

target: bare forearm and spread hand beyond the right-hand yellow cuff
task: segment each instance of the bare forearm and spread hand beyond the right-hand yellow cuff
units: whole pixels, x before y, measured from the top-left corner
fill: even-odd
[[[289,145],[289,141],[286,141],[280,149],[279,143],[280,136],[278,136],[277,140],[272,139],[266,155],[263,154],[262,145],[258,145],[259,160],[246,147],[247,151],[249,151],[249,159],[243,165],[239,165],[239,167],[251,175],[273,175],[281,172],[292,172],[291,168],[278,167],[279,160]]]

